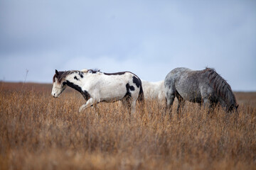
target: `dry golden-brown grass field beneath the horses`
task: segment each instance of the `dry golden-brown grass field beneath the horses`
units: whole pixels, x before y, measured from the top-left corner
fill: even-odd
[[[157,101],[133,116],[118,103],[79,113],[77,91],[50,91],[0,82],[0,169],[256,169],[256,93],[235,93],[238,118],[186,103],[169,120]]]

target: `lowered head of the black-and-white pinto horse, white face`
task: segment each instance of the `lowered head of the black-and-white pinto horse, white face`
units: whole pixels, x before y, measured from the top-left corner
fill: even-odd
[[[63,72],[58,72],[57,69],[55,69],[55,74],[53,76],[53,89],[52,89],[52,96],[54,98],[58,98],[60,94],[65,90],[66,84],[62,77]]]

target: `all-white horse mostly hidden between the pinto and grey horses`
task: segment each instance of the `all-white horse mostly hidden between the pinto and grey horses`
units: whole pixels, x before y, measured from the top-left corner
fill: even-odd
[[[164,80],[156,82],[142,80],[142,89],[146,99],[157,99],[159,101],[165,99]]]

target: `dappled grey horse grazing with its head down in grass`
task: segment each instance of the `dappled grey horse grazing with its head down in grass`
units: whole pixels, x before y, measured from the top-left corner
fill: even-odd
[[[208,109],[208,113],[218,103],[227,112],[238,111],[238,103],[230,85],[220,77],[220,74],[215,72],[215,69],[206,67],[203,70],[191,70],[178,67],[166,75],[164,88],[169,115],[171,115],[175,97],[178,98],[178,117],[180,117],[185,101],[199,103],[199,106],[203,103],[203,106]]]

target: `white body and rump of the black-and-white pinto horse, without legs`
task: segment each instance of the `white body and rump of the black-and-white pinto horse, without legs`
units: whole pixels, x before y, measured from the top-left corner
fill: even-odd
[[[112,102],[121,100],[124,96],[138,98],[143,93],[142,83],[132,72],[90,73],[83,89],[99,101]]]

